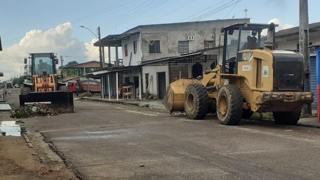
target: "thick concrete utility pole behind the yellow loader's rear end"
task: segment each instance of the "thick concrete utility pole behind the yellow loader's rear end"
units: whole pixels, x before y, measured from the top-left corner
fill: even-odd
[[[308,17],[308,0],[299,0],[299,52],[304,57],[304,89],[306,92],[311,91],[310,81],[310,56],[309,49],[309,17]],[[303,116],[310,116],[311,103],[302,108]]]

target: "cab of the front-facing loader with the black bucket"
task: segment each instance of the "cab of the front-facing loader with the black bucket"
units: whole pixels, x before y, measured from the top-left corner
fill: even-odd
[[[57,74],[56,64],[58,60],[55,58],[54,53],[30,53],[29,59],[31,62],[31,75]]]

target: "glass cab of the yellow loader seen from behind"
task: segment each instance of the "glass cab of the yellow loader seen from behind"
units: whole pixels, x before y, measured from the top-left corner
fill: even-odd
[[[273,26],[273,29],[270,26]],[[219,61],[219,65],[222,65],[222,73],[238,73],[238,61],[241,61],[243,59],[242,54],[241,56],[239,56],[239,51],[243,51],[246,49],[266,49],[264,47],[265,42],[275,42],[275,26],[277,25],[274,25],[273,23],[271,23],[270,25],[254,23],[236,23],[223,27],[221,29],[221,33],[224,33],[224,44],[222,52],[222,61]],[[272,33],[270,33],[271,37],[269,38],[267,37],[268,29],[269,31],[272,31]]]

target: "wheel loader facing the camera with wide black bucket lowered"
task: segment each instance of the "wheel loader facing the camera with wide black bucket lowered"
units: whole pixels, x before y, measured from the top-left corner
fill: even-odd
[[[54,53],[29,53],[30,75],[25,76],[27,82],[21,88],[20,106],[45,103],[60,113],[74,112],[73,93],[68,86],[58,82],[58,59]],[[28,59],[24,59],[27,64]]]

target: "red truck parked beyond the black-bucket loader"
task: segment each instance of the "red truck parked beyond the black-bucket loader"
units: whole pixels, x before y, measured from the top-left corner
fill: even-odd
[[[100,84],[83,84],[83,82],[78,78],[76,82],[68,82],[67,86],[69,87],[70,92],[74,92],[76,94],[88,91],[88,88],[91,93],[100,93],[101,86]]]

